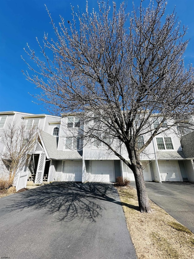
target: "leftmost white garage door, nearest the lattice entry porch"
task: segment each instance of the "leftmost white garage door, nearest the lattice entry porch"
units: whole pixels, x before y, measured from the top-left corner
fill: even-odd
[[[63,181],[82,182],[82,161],[63,162]]]

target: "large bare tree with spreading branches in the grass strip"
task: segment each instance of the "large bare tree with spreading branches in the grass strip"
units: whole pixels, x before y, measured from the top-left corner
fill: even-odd
[[[102,1],[91,14],[88,5],[82,14],[72,8],[72,20],[61,18],[59,29],[47,10],[56,39],[45,35],[43,44],[37,39],[41,58],[28,46],[34,76],[25,75],[42,90],[37,98],[50,111],[54,104],[55,112],[84,114],[84,136],[104,143],[132,169],[140,211],[150,212],[140,154],[160,132],[184,125],[194,113],[194,91],[193,68],[183,62],[186,28],[175,12],[164,19],[164,0],[154,1],[156,6],[151,1],[146,9],[143,2],[132,15],[124,3],[117,10],[113,2],[111,11]],[[164,127],[167,119],[173,121]],[[148,137],[139,145],[142,135]]]

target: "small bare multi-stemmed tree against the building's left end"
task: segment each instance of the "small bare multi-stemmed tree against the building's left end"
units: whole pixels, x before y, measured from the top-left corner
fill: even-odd
[[[18,171],[28,163],[36,139],[36,129],[32,127],[26,130],[25,128],[24,123],[17,126],[13,121],[2,135],[5,151],[0,155],[0,159],[5,164],[9,172],[8,179],[12,183]]]

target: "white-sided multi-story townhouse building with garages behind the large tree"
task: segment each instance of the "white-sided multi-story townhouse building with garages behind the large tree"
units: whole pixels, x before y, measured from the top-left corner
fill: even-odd
[[[0,132],[16,121],[25,124],[25,130],[37,128],[37,138],[30,159],[15,179],[16,189],[52,181],[115,182],[118,176],[135,180],[132,171],[106,145],[94,139],[83,138],[84,121],[79,114],[62,114],[62,117],[46,114],[26,114],[15,111],[0,112]],[[153,125],[153,128],[156,125]],[[166,124],[163,125],[166,127]],[[141,136],[143,145],[149,135]],[[111,139],[107,140],[111,141]],[[129,157],[123,145],[111,143],[127,161]],[[0,139],[0,151],[5,147]],[[194,181],[193,157],[182,150],[180,130],[173,127],[157,135],[141,154],[145,181]],[[8,173],[1,162],[0,173]]]

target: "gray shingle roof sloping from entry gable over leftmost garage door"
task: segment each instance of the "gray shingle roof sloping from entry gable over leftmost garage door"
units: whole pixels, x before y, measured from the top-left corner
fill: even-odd
[[[82,159],[82,154],[80,155],[80,152],[78,152],[77,150],[57,150],[56,137],[49,135],[48,133],[42,130],[40,130],[40,134],[50,158],[56,160]]]

